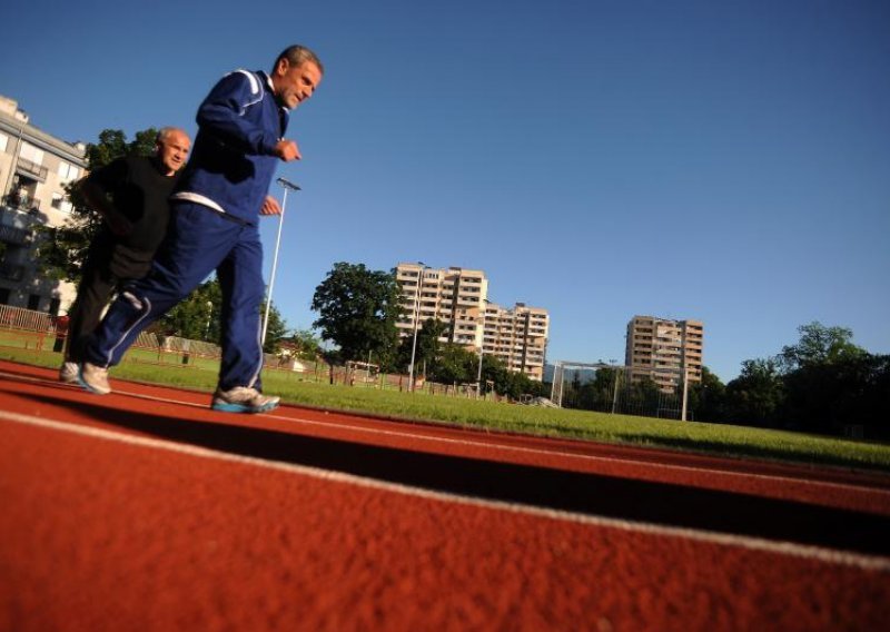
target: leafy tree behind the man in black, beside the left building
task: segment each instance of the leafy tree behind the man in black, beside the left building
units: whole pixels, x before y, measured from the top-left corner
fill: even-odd
[[[127,142],[127,135],[119,129],[106,129],[99,141],[87,146],[87,169],[96,171],[122,156],[150,156],[155,152],[158,132],[148,128],[136,134]],[[101,226],[101,218],[83,199],[79,181],[69,182],[66,192],[71,200],[71,216],[61,226],[38,228],[38,260],[46,276],[77,284],[90,244]]]

